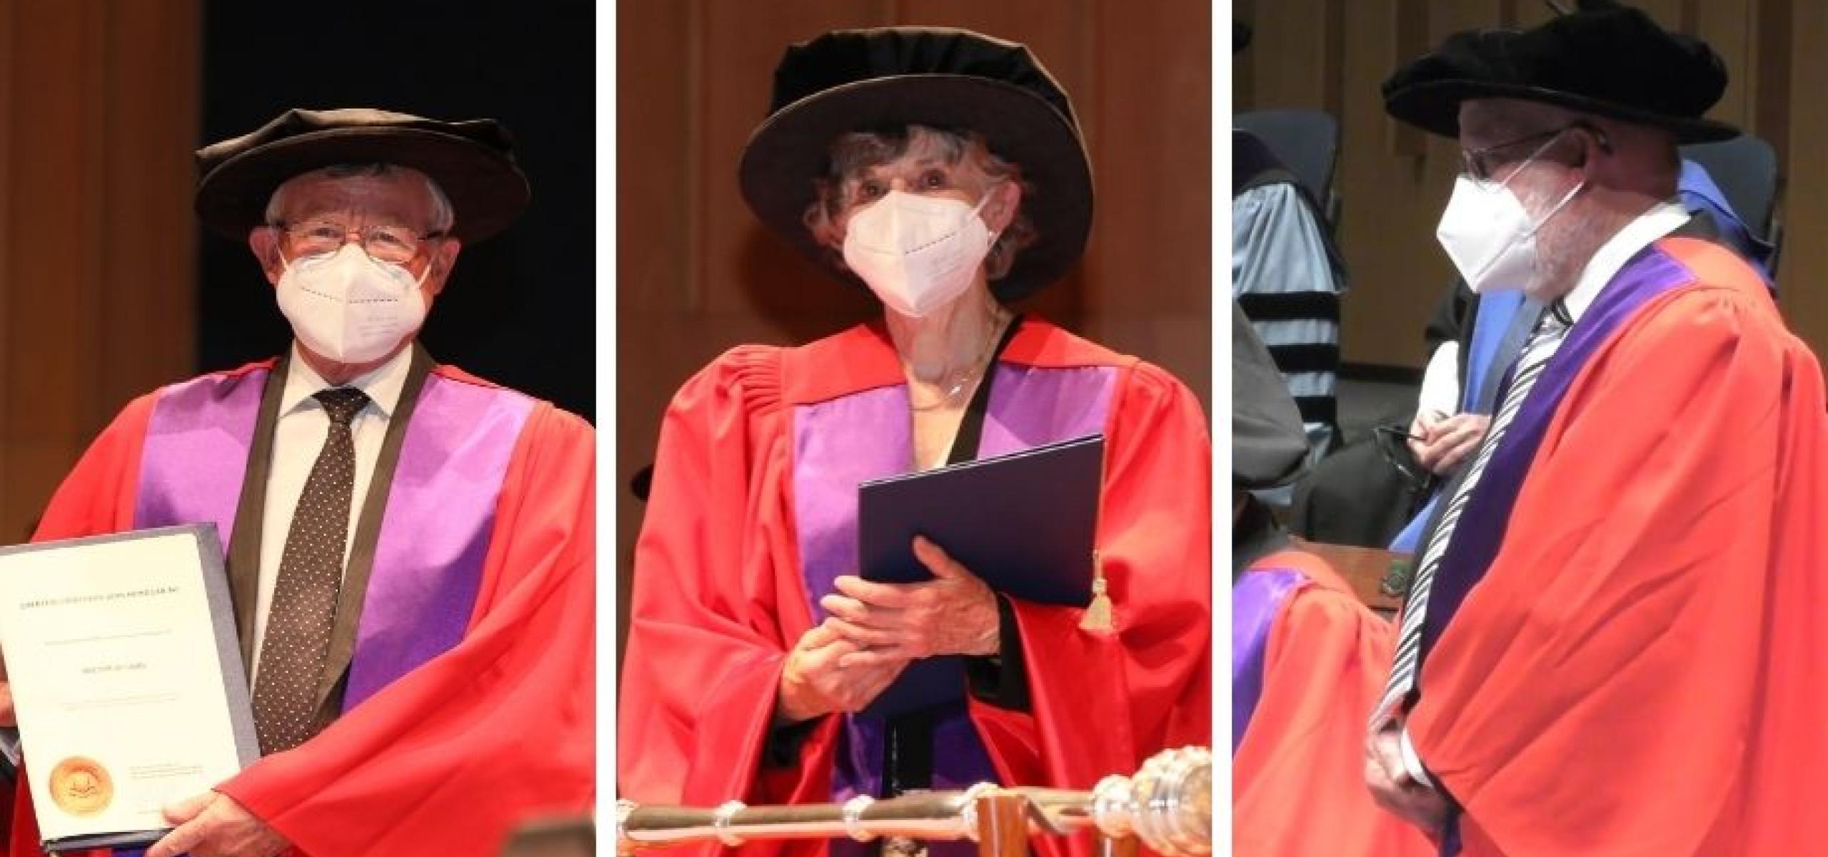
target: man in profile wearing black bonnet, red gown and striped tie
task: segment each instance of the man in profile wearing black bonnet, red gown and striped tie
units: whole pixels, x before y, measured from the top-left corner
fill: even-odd
[[[1616,2],[1448,37],[1386,110],[1464,157],[1442,249],[1543,311],[1420,539],[1366,778],[1444,853],[1828,841],[1828,413],[1676,197],[1726,71]]]

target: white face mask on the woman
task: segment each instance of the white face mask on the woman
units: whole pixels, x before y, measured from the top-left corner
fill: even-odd
[[[925,318],[971,287],[996,236],[976,206],[890,190],[850,217],[845,263],[892,311]]]

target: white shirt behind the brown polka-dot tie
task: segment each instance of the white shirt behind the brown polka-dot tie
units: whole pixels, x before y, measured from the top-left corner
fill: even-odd
[[[355,437],[355,493],[349,503],[349,537],[344,543],[344,563],[347,563],[349,545],[355,541],[355,523],[362,515],[362,501],[375,477],[380,442],[388,437],[388,420],[400,404],[400,389],[406,386],[406,371],[411,362],[413,349],[404,347],[386,364],[347,384],[367,393],[367,404],[349,422],[349,433]],[[280,417],[272,426],[272,462],[267,475],[265,512],[260,521],[260,587],[254,599],[252,674],[260,671],[260,647],[267,640],[267,612],[272,610],[272,590],[280,581],[285,535],[292,530],[298,495],[305,490],[305,479],[311,477],[311,466],[316,464],[331,426],[324,406],[313,398],[331,384],[311,369],[311,364],[305,364],[296,344],[289,367],[285,393],[280,398]]]

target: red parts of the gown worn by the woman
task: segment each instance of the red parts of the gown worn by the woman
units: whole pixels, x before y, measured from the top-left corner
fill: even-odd
[[[1002,354],[1035,367],[1117,367],[1097,543],[1115,632],[1082,608],[1015,601],[1033,713],[971,700],[1004,784],[1089,789],[1164,747],[1210,744],[1210,440],[1192,393],[1164,371],[1026,322]],[[781,669],[810,629],[795,546],[793,407],[903,384],[887,334],[737,347],[673,398],[636,546],[623,661],[618,782],[636,802],[830,800],[839,718],[797,767],[759,767]],[[1066,853],[1038,837],[1042,853]],[[713,850],[717,846],[706,846]],[[1071,839],[1089,853],[1091,837]],[[824,841],[744,853],[823,853]]]

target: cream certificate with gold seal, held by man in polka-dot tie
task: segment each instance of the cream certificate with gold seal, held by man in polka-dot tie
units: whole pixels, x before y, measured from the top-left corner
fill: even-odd
[[[0,548],[0,652],[46,852],[152,844],[260,758],[212,524]]]

